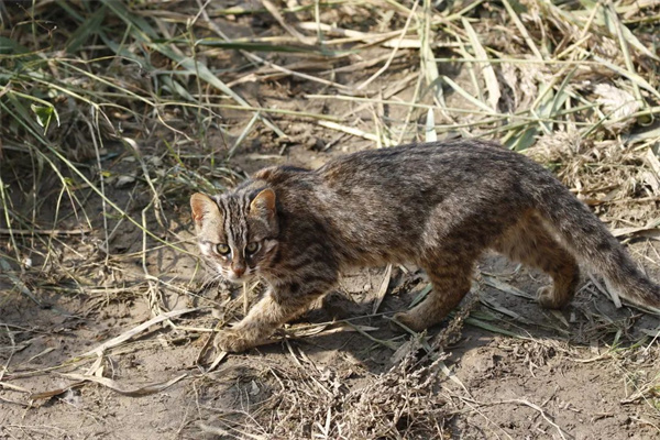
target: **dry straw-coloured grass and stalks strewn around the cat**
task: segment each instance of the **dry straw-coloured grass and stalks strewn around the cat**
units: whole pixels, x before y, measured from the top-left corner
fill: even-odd
[[[16,297],[40,307],[78,298],[84,319],[143,300],[172,340],[204,334],[208,322],[176,321],[173,298],[219,307],[223,319],[240,314],[239,301],[202,295],[195,273],[180,279],[154,270],[164,255],[195,254],[182,215],[187,196],[242,179],[240,157],[245,164],[299,145],[317,154],[458,135],[497,139],[553,167],[617,235],[657,237],[658,2],[437,4],[0,3],[0,309]],[[660,258],[648,255],[645,263],[657,268]],[[505,279],[483,280],[520,294]],[[550,349],[519,330],[529,322],[502,304],[484,305],[454,322],[519,338],[517,350],[538,365]],[[99,358],[21,366],[12,360],[41,330],[2,321],[0,385],[23,397],[33,392],[12,387],[12,380],[52,371],[108,385],[103,355],[139,346],[127,338],[99,349]],[[607,359],[635,384],[630,402],[657,409],[658,378],[632,377],[629,362],[648,359],[657,343],[619,350],[628,323],[606,314],[590,323],[588,340],[607,341]],[[400,361],[382,374],[362,372],[364,381],[351,388],[340,372],[319,370],[292,349],[290,365],[261,370],[280,388],[245,416],[252,425],[239,418],[201,429],[245,438],[449,438],[454,414],[495,404],[442,391],[444,344],[416,341],[384,341],[402,346]],[[1,398],[25,400],[12,396]],[[540,403],[507,405],[531,408],[565,436]]]

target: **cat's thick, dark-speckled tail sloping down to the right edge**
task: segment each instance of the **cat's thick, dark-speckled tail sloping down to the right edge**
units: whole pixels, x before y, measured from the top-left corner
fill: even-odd
[[[610,293],[660,314],[660,285],[639,271],[628,252],[586,205],[559,183],[539,196],[537,209],[548,226],[581,263],[604,277]]]

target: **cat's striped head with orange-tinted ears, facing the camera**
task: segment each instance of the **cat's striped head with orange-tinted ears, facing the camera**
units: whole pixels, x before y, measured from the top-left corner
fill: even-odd
[[[275,193],[242,190],[190,197],[202,256],[226,279],[243,283],[266,267],[277,249]]]

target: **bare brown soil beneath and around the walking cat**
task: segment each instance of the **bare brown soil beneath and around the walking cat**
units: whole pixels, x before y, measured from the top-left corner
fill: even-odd
[[[374,51],[374,57],[382,55]],[[376,85],[398,88],[392,96],[409,100],[415,81],[408,74],[392,69]],[[359,80],[356,73],[343,75],[342,84]],[[453,73],[457,80],[461,75]],[[392,120],[405,118],[398,108],[308,99],[307,94],[319,94],[322,87],[307,81],[243,82],[234,89],[264,108],[323,108],[327,114],[353,111],[356,128],[365,127],[374,111],[384,111]],[[227,111],[223,118],[228,127],[234,125],[230,130],[234,138],[211,130],[206,145],[196,145],[193,153],[210,147],[222,156],[251,116]],[[373,147],[372,141],[331,131],[314,120],[272,119],[289,134],[288,141],[257,124],[227,165],[233,174],[218,170],[209,178],[230,185],[262,166],[316,167],[336,155]],[[145,138],[143,144],[145,160],[158,158],[158,141]],[[121,185],[109,182],[108,196],[140,223],[152,199],[140,165],[121,145],[107,148],[103,165],[112,175],[138,176]],[[166,168],[156,160],[148,164],[152,176]],[[32,246],[36,251],[30,255],[31,266],[22,275],[16,272],[18,284],[0,277],[1,439],[295,438],[287,432],[343,438],[334,420],[339,411],[350,408],[337,403],[353,402],[349,397],[366,393],[374,381],[396,370],[402,350],[408,346],[405,342],[418,337],[391,328],[387,317],[408,307],[425,288],[424,274],[415,267],[393,268],[377,314],[373,308],[385,268],[346,274],[337,293],[289,328],[292,333],[308,328],[318,334],[298,334],[229,354],[210,370],[218,354],[209,346],[211,330],[240,318],[241,292],[205,284],[208,276],[191,234],[189,193],[173,186],[163,197],[164,226],[158,224],[155,209],[145,215],[150,229],[183,251],[161,246],[147,237],[143,254],[142,230],[127,219],[103,217],[100,200],[90,196],[85,210],[91,232],[56,235],[53,243],[44,235]],[[48,201],[57,196],[45,194]],[[22,196],[13,197],[18,205]],[[85,227],[70,207],[62,205],[62,209],[59,216],[70,217],[58,228]],[[51,224],[55,213],[44,208],[41,216],[40,224]],[[103,252],[103,219],[108,231],[118,228],[108,253]],[[634,237],[627,244],[649,275],[660,279],[660,243]],[[55,262],[44,257],[48,245],[57,251]],[[74,283],[81,278],[88,284]],[[495,283],[502,288],[493,287]],[[559,312],[503,292],[513,287],[534,295],[544,283],[543,276],[526,267],[496,255],[484,257],[475,282],[480,300],[465,305],[472,319],[452,333],[444,346],[447,369],[438,371],[438,382],[425,397],[429,411],[435,411],[435,427],[416,435],[374,433],[373,438],[659,438],[660,345],[649,334],[653,330],[657,334],[660,320],[635,308],[616,308],[588,278],[571,306]],[[18,285],[38,304],[20,293]],[[81,358],[156,315],[188,308],[193,311],[144,329],[101,358]],[[433,340],[443,328],[430,329],[427,336]],[[80,381],[89,372],[94,372],[91,380]],[[152,393],[150,387],[179,376]],[[113,382],[94,382],[103,378]],[[334,400],[317,399],[323,396],[316,394],[319,389]],[[405,405],[404,399],[402,408]]]

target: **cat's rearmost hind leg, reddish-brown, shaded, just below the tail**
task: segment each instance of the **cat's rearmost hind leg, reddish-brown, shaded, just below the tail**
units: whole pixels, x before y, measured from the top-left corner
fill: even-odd
[[[559,309],[566,306],[580,283],[575,257],[543,227],[541,218],[528,212],[492,246],[515,262],[538,268],[552,277],[552,285],[537,293],[541,306]]]

